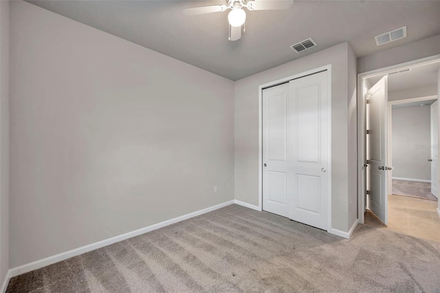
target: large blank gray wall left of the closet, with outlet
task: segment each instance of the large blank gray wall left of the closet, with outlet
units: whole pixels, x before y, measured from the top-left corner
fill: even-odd
[[[234,199],[231,80],[23,1],[10,19],[11,267]]]

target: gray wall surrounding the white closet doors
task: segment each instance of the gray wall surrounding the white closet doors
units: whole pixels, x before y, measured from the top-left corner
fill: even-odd
[[[259,85],[331,64],[332,226],[348,231],[353,224],[348,217],[349,182],[356,182],[356,165],[349,163],[354,160],[349,155],[355,152],[355,138],[348,122],[356,116],[353,80],[348,82],[355,67],[350,50],[348,43],[341,43],[235,82],[235,199],[259,204]]]

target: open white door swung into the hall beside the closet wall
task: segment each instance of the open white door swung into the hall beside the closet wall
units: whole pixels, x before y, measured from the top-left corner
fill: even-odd
[[[367,189],[369,208],[388,224],[388,76],[366,93],[367,103]],[[369,184],[368,184],[369,183]]]

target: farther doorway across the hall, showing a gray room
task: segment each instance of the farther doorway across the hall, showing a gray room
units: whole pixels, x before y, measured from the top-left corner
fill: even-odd
[[[437,96],[388,102],[393,166],[389,194],[437,202],[437,104]]]

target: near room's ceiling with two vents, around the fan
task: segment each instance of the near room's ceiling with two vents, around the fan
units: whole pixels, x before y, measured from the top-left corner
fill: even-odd
[[[440,1],[296,0],[289,10],[246,11],[246,32],[234,42],[228,41],[228,12],[183,13],[224,0],[28,2],[231,80],[344,41],[360,57],[440,34]],[[404,25],[408,37],[376,46],[374,36]],[[309,37],[317,47],[300,54],[289,48]]]

